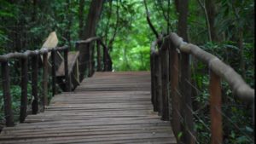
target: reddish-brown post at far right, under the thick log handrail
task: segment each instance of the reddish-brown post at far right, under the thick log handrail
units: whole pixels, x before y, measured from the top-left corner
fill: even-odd
[[[221,83],[217,74],[210,71],[210,112],[212,144],[222,143]]]

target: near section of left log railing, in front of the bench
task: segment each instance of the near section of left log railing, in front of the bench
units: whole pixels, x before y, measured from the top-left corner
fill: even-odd
[[[30,51],[27,50],[24,53],[9,53],[7,55],[0,55],[0,63],[2,68],[3,79],[3,101],[4,101],[4,114],[6,120],[6,126],[14,126],[14,114],[12,110],[12,96],[10,94],[10,73],[9,73],[9,61],[12,59],[18,59],[21,61],[21,101],[20,101],[20,123],[23,123],[26,118],[27,112],[27,84],[28,84],[28,65],[32,65],[32,114],[38,113],[38,63],[39,58],[43,56],[43,106],[48,105],[48,53],[51,53],[51,67],[52,67],[52,91],[55,95],[55,52],[63,51],[65,59],[65,78],[67,91],[70,90],[70,79],[67,73],[67,46],[57,47],[55,49],[40,49]]]

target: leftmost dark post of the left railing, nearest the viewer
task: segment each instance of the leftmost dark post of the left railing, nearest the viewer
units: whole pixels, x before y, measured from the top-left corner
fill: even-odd
[[[12,98],[10,95],[10,81],[9,81],[9,63],[8,61],[2,62],[2,78],[3,78],[3,101],[4,101],[4,114],[6,126],[15,126],[14,114],[12,111]]]

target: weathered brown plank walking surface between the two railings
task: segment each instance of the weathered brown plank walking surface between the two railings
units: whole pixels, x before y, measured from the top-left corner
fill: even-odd
[[[45,112],[4,128],[0,143],[176,143],[150,101],[149,72],[96,72]]]

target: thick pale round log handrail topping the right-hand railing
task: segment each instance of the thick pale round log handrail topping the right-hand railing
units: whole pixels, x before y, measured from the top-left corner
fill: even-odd
[[[226,65],[222,60],[219,60],[218,57],[207,53],[198,46],[183,42],[183,39],[178,37],[176,33],[171,33],[170,38],[175,47],[184,53],[194,55],[199,60],[202,60],[212,72],[218,74],[220,78],[224,78],[228,84],[230,84],[233,93],[237,95],[238,98],[247,102],[254,101],[254,89],[250,88],[232,67]]]

